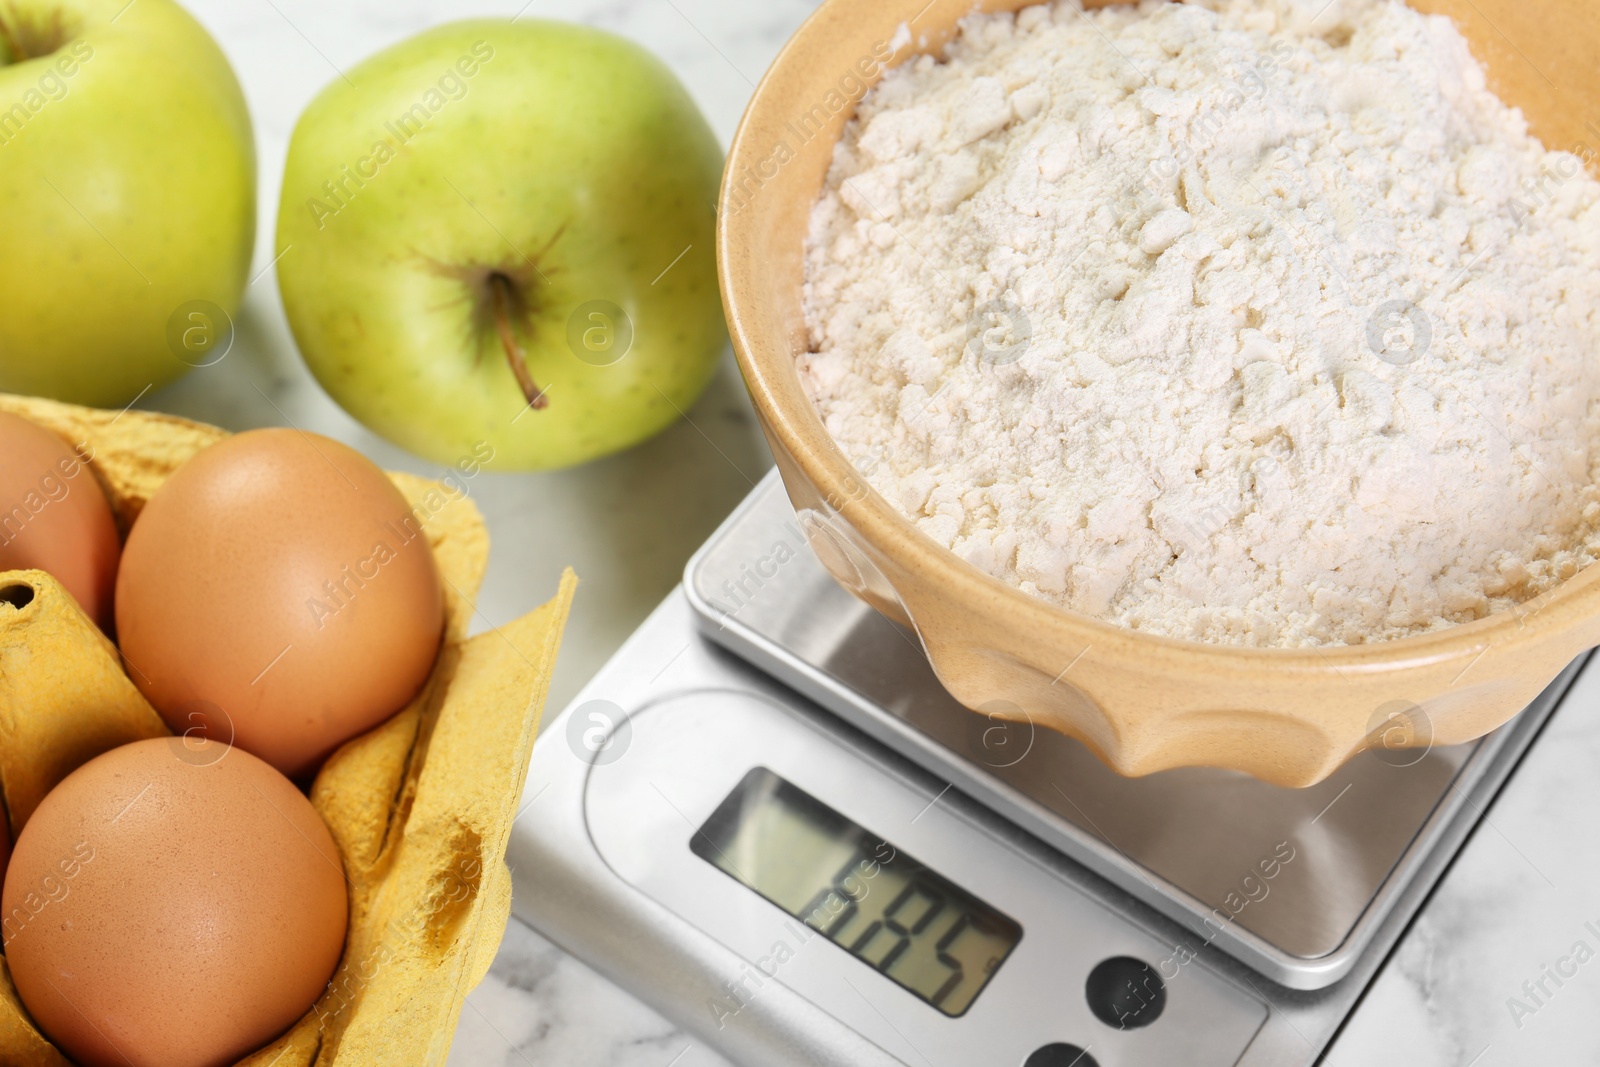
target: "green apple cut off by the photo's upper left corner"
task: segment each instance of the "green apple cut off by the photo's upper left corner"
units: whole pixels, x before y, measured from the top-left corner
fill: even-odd
[[[256,157],[216,42],[171,0],[0,0],[0,390],[120,406],[221,358]]]

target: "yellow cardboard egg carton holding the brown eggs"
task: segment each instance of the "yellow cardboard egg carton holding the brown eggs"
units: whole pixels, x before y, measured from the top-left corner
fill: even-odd
[[[184,461],[227,435],[3,394],[0,411],[78,450],[122,534]],[[422,520],[445,581],[443,646],[418,697],[334,752],[310,787],[344,857],[344,955],[315,1006],[238,1067],[443,1065],[462,998],[488,973],[510,915],[506,840],[578,579],[568,569],[554,600],[469,638],[490,550],[483,517],[459,490],[389,477]],[[54,579],[0,574],[0,798],[13,840],[77,766],[170,733]],[[0,1064],[70,1064],[34,1027],[3,958]]]

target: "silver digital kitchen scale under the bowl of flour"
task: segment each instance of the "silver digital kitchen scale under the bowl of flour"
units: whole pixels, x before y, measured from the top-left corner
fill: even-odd
[[[514,910],[747,1067],[1315,1062],[1581,669],[1294,790],[957,704],[776,474],[534,745]]]

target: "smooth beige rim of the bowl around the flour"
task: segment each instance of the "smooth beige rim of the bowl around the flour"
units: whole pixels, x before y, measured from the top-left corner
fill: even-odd
[[[971,0],[965,10],[970,14],[1014,11],[1043,2],[1048,0]],[[1104,3],[1104,0],[1101,2]],[[782,378],[786,374],[794,376],[794,384],[800,389],[798,370],[795,368],[797,354],[790,350],[790,346],[784,346],[781,354],[765,352],[763,344],[754,338],[747,301],[734,283],[738,270],[733,267],[750,264],[757,258],[750,248],[750,237],[757,229],[752,222],[758,213],[728,210],[730,195],[736,190],[739,174],[757,166],[763,158],[757,134],[768,128],[771,112],[784,109],[795,99],[790,82],[797,80],[795,70],[802,66],[797,64],[797,58],[822,45],[830,22],[842,18],[843,11],[851,6],[880,10],[878,3],[882,0],[824,0],[784,43],[755,86],[734,131],[728,147],[717,211],[718,286],[734,355],[757,413],[789,459],[805,472],[824,498],[840,501],[838,512],[877,550],[907,569],[939,574],[941,581],[950,587],[952,598],[960,603],[1000,601],[1006,614],[1019,619],[1013,625],[1062,635],[1085,646],[1118,649],[1144,657],[1158,656],[1173,661],[1174,665],[1203,669],[1211,675],[1218,672],[1254,673],[1261,667],[1269,667],[1275,673],[1325,675],[1328,669],[1336,672],[1360,669],[1362,673],[1371,673],[1429,665],[1462,656],[1474,656],[1472,662],[1477,662],[1491,646],[1504,653],[1528,643],[1542,643],[1550,633],[1568,630],[1584,619],[1600,614],[1600,605],[1595,603],[1597,592],[1600,592],[1600,563],[1595,563],[1514,608],[1421,633],[1362,645],[1264,648],[1208,643],[1150,633],[1053,605],[979,571],[918,530],[854,469],[803,390],[800,390],[802,405],[790,405],[784,400]],[[923,8],[923,11],[926,10]],[[877,85],[883,70],[915,59],[925,51],[938,54],[942,38],[933,37],[938,46],[928,46],[928,34],[923,34],[918,42],[896,42],[893,56],[882,64],[880,72],[866,78],[869,90]],[[845,123],[854,120],[858,106],[859,99],[846,104],[842,112]],[[830,144],[837,144],[837,138]],[[814,195],[813,192],[813,203]],[[912,624],[923,637],[915,619]],[[923,637],[923,640],[926,638]]]

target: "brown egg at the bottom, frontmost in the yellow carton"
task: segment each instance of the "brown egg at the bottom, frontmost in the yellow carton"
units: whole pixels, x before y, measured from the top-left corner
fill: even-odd
[[[306,1014],[344,950],[333,835],[294,785],[214,741],[90,760],[18,835],[5,957],[80,1067],[221,1067]]]

